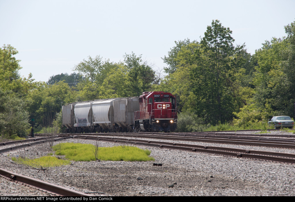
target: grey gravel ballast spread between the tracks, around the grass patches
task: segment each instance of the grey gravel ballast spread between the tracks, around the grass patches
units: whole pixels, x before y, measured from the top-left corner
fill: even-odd
[[[69,139],[63,142],[95,144],[95,141],[85,139]],[[209,145],[209,143],[202,144]],[[99,142],[100,147],[114,145],[119,144]],[[226,147],[231,146],[245,147],[238,145]],[[45,172],[17,165],[11,161],[11,157],[14,156],[38,157],[52,152],[45,147],[46,144],[40,144],[0,154],[0,166],[14,173],[96,196],[295,195],[295,165],[206,153],[138,146],[150,150],[155,161],[73,161],[71,165],[48,168]],[[286,152],[286,149],[273,149],[276,152]],[[287,152],[292,153],[292,150]],[[162,166],[154,166],[154,163]]]

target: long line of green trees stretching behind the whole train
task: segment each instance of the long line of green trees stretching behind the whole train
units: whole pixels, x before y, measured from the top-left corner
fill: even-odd
[[[165,77],[132,52],[123,55],[123,62],[89,56],[73,67],[75,73],[38,82],[32,74],[20,77],[17,50],[4,45],[0,48],[0,133],[21,136],[33,124],[51,126],[66,103],[139,96],[145,91],[177,96],[179,123],[186,125],[183,131],[229,122],[257,126],[276,115],[294,117],[294,23],[285,26],[286,37],[266,40],[251,55],[245,44],[234,45],[230,28],[213,20],[200,41],[175,41],[162,58],[167,65]]]

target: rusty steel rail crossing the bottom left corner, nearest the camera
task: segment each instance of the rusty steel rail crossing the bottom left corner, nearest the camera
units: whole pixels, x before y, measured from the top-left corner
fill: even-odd
[[[8,170],[4,170],[0,168],[0,175],[10,178],[11,180],[18,181],[20,183],[24,183],[35,188],[39,188],[41,190],[46,190],[54,194],[58,194],[60,196],[91,196],[79,191],[71,190],[59,185],[54,185],[42,180],[37,180],[34,178],[30,178],[24,175],[19,175],[17,173],[10,172]]]

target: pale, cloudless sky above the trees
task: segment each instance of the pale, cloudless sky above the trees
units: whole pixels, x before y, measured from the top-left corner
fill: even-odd
[[[119,62],[133,51],[162,69],[174,41],[200,41],[215,19],[254,54],[265,40],[286,36],[295,1],[0,0],[0,14],[0,46],[19,51],[20,74],[48,81],[73,73],[88,55]]]

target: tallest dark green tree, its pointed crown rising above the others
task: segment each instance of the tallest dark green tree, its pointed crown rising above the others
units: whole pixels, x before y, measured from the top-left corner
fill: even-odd
[[[238,85],[234,75],[240,69],[242,57],[238,55],[244,45],[235,48],[235,40],[230,34],[232,31],[229,27],[223,27],[219,20],[212,21],[200,42],[206,55],[206,65],[197,65],[192,74],[193,92],[198,95],[198,92],[204,92],[200,86],[207,89],[203,95],[206,95],[204,99],[209,105],[205,107],[212,109],[210,117],[214,124],[219,120],[230,120],[232,111],[235,111],[232,103],[237,101],[235,92]],[[206,84],[200,81],[202,76]]]

